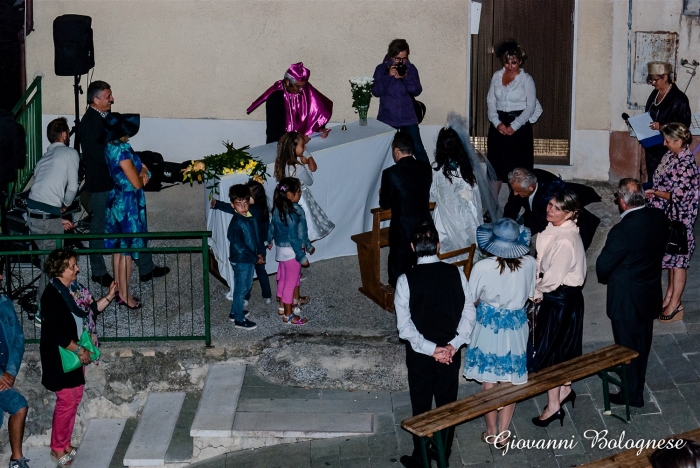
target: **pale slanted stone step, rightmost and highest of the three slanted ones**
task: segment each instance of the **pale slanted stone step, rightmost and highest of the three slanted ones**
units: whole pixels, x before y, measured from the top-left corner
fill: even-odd
[[[231,437],[245,367],[219,364],[209,368],[190,429],[192,437]]]

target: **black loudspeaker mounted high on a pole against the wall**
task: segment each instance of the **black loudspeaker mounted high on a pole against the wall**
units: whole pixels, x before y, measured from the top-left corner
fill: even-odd
[[[54,69],[58,76],[85,75],[95,66],[92,18],[63,15],[53,21]]]

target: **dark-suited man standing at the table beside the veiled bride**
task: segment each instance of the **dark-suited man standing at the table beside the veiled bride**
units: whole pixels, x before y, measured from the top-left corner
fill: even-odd
[[[416,263],[411,235],[423,221],[430,221],[430,165],[413,157],[413,139],[398,132],[391,143],[393,166],[382,172],[379,206],[391,208],[389,226],[389,284]]]

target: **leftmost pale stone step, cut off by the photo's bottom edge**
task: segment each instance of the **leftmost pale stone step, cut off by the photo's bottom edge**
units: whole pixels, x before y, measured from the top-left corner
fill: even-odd
[[[80,441],[73,468],[108,468],[126,419],[91,419]]]

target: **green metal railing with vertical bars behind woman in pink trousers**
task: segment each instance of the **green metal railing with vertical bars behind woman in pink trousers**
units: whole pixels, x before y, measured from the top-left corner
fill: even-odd
[[[5,276],[5,290],[12,299],[24,329],[25,341],[37,343],[39,330],[34,320],[37,289],[45,275],[40,265],[51,250],[32,249],[32,241],[51,240],[56,248],[66,241],[82,242],[104,239],[106,234],[48,234],[0,236],[0,268]],[[158,266],[170,268],[162,278],[139,281],[133,265],[130,291],[139,297],[143,307],[129,309],[113,301],[96,320],[100,341],[178,341],[204,340],[211,345],[209,298],[209,246],[211,232],[149,232],[109,234],[114,239],[148,239],[146,248],[76,249],[80,255],[78,281],[85,285],[95,299],[107,288],[90,280],[90,254],[150,252]],[[67,247],[69,248],[69,247]],[[109,261],[107,261],[109,265]],[[49,286],[50,287],[50,286]]]

